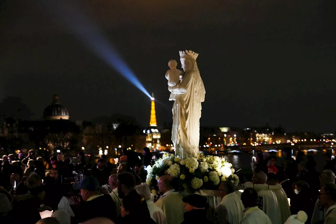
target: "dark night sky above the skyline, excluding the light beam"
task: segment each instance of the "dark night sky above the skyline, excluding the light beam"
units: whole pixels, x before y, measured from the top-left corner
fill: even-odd
[[[148,125],[149,98],[86,48],[48,2],[61,1],[1,2],[0,101],[19,96],[39,119],[57,91],[72,120],[122,113]],[[159,125],[172,121],[167,63],[181,69],[178,51],[190,49],[200,54],[206,89],[201,125],[336,129],[333,0],[66,2],[154,92]]]

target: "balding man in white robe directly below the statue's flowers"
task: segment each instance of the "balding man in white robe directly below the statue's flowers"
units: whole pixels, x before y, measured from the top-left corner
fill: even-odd
[[[170,175],[161,176],[158,180],[159,192],[162,195],[155,204],[161,208],[166,216],[167,224],[176,224],[183,221],[183,196],[174,189],[174,181]]]

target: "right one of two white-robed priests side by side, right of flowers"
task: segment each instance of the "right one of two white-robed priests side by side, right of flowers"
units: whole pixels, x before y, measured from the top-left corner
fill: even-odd
[[[268,184],[268,186],[266,184]],[[282,223],[285,223],[288,217],[291,216],[291,209],[289,208],[286,192],[282,189],[281,184],[277,184],[277,175],[274,173],[267,174],[266,184],[259,186],[263,190],[271,190],[275,193],[280,207],[281,220]]]

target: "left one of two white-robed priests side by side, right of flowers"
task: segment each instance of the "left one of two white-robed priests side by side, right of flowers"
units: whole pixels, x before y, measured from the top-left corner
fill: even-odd
[[[268,190],[269,185],[265,184],[266,180],[267,175],[260,171],[253,175],[253,183],[246,182],[244,187],[251,187],[258,192],[259,208],[269,217],[273,224],[282,224],[278,198],[273,191]]]

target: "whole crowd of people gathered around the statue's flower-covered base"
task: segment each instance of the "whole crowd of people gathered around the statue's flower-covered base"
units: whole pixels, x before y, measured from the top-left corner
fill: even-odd
[[[118,166],[102,155],[90,169],[82,152],[76,163],[60,153],[48,159],[47,172],[34,150],[3,155],[0,223],[336,224],[336,160],[325,153],[319,173],[311,156],[298,152],[293,159],[290,148],[283,152],[281,166],[276,156],[258,153],[251,178],[241,173],[238,186],[222,181],[213,196],[183,196],[169,175],[158,177],[153,194],[143,183],[149,148],[142,159],[124,149]],[[73,178],[78,171],[85,176],[80,182]],[[211,208],[214,197],[220,203]]]

